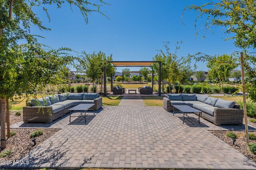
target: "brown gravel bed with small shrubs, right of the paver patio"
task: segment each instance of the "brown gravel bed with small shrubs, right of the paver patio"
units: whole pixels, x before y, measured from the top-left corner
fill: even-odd
[[[210,131],[216,137],[220,138],[222,141],[226,142],[228,145],[232,146],[234,149],[238,150],[240,153],[244,154],[247,158],[250,158],[256,162],[256,154],[253,154],[246,143],[246,137],[244,137],[245,131],[233,131],[237,135],[235,145],[232,144],[232,139],[227,137],[226,134],[231,131]],[[249,132],[254,133],[256,132]],[[250,140],[250,143],[256,143],[256,140]]]

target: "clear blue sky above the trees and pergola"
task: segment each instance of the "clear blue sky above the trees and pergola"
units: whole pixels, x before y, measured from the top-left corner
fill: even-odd
[[[202,32],[195,39],[194,20],[196,12],[186,11],[181,23],[182,11],[186,6],[200,5],[206,0],[105,0],[111,5],[102,6],[101,10],[108,18],[98,13],[89,16],[86,25],[79,10],[70,10],[68,4],[61,8],[51,5],[48,8],[51,21],[39,8],[35,9],[38,17],[51,31],[32,32],[46,37],[40,42],[52,48],[69,47],[74,51],[93,53],[102,51],[113,55],[114,61],[151,61],[159,49],[164,49],[163,42],[170,41],[171,52],[174,44],[183,41],[178,56],[187,56],[198,52],[208,55],[231,54],[239,50],[233,41],[224,41],[225,29],[212,27],[207,38],[202,39]],[[205,18],[198,20],[198,27]],[[75,53],[74,53],[75,55]],[[207,70],[206,63],[197,63],[198,70]],[[131,67],[131,70],[139,68]],[[74,69],[73,69],[74,70]],[[75,71],[75,70],[74,70]],[[121,67],[117,71],[122,71]]]

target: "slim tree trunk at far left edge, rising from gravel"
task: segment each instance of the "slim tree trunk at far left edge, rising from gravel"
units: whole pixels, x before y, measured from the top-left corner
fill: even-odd
[[[6,122],[6,99],[2,98],[0,100],[1,149],[5,149],[6,148],[5,122]]]

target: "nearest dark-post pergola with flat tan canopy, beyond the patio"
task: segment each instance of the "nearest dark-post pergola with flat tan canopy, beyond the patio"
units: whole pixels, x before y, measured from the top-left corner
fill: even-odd
[[[161,96],[161,61],[107,61],[107,63],[112,63],[115,67],[152,67],[153,63],[158,63],[158,95]],[[107,95],[107,67],[106,63],[104,66],[104,96]],[[153,73],[153,67],[152,67]],[[154,75],[152,74],[152,88],[154,86]],[[113,74],[111,74],[111,91],[113,89]],[[154,89],[154,88],[153,88]]]

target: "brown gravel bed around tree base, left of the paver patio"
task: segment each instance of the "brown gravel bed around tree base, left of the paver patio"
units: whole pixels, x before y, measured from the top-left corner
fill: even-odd
[[[36,131],[38,129],[10,129],[11,131],[15,131],[16,135],[10,137],[6,143],[6,149],[0,150],[0,154],[6,150],[11,150],[11,154],[6,157],[0,157],[1,161],[14,161],[19,160],[22,156],[30,152],[30,150],[34,149],[36,146],[40,145],[43,141],[48,139],[54,133],[58,132],[60,129],[40,129],[44,133],[36,137],[36,146],[32,142],[30,138],[30,133]]]

